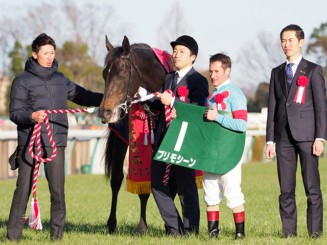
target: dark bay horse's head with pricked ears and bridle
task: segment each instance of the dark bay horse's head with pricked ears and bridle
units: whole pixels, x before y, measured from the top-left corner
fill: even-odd
[[[140,85],[140,74],[132,65],[128,38],[124,37],[121,47],[113,47],[106,36],[106,47],[108,54],[102,72],[105,90],[98,111],[98,116],[104,124],[120,119],[121,105],[126,103],[129,96],[133,98]]]

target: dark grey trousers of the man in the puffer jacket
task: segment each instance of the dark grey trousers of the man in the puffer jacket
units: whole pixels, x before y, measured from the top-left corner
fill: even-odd
[[[36,152],[37,150],[34,148],[34,153]],[[42,158],[48,158],[52,155],[53,149],[46,147],[42,148],[41,152]],[[50,236],[55,239],[60,239],[62,237],[66,219],[64,158],[64,147],[57,147],[56,157],[50,162],[43,163],[45,177],[48,180],[50,190]],[[32,191],[35,164],[36,160],[31,157],[28,146],[19,146],[18,177],[7,228],[7,235],[10,240],[20,240],[22,228],[24,226],[24,222],[21,220],[26,214],[27,203]]]

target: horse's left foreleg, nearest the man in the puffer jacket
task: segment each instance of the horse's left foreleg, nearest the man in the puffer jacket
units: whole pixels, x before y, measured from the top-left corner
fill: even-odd
[[[114,143],[112,147],[112,168],[111,168],[111,179],[110,185],[112,190],[112,199],[111,199],[111,210],[110,216],[107,221],[109,233],[114,232],[117,219],[116,219],[116,208],[117,208],[117,198],[118,192],[122,186],[124,179],[123,165],[124,158],[126,155],[128,145],[116,134],[114,135]]]

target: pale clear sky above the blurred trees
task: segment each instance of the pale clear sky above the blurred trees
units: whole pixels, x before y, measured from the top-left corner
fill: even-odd
[[[58,4],[62,0],[52,0]],[[258,39],[262,31],[279,33],[288,24],[298,24],[306,34],[306,44],[314,28],[327,22],[326,0],[71,0],[79,5],[90,2],[94,5],[110,5],[120,23],[130,26],[126,36],[131,43],[144,42],[157,47],[157,31],[165,15],[178,2],[184,10],[189,33],[199,45],[195,68],[207,69],[209,55],[227,52],[232,62],[237,60],[242,48]],[[0,13],[14,11],[16,6],[35,4],[32,0],[0,0]],[[49,4],[49,3],[48,3]],[[177,38],[177,37],[176,37]],[[175,39],[176,39],[175,38]],[[109,38],[110,39],[110,38]],[[118,38],[123,40],[123,36]],[[112,43],[113,45],[121,45]],[[173,40],[171,40],[173,41]],[[305,45],[306,45],[305,44]],[[171,53],[171,50],[168,50]],[[282,52],[282,48],[281,48]],[[273,68],[273,67],[271,67]]]

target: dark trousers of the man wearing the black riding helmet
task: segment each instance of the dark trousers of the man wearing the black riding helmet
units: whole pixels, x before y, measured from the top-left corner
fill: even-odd
[[[151,160],[151,190],[170,234],[198,234],[200,207],[198,189],[195,181],[195,170],[172,164],[170,177],[176,175],[178,195],[182,207],[183,221],[169,191],[169,186],[162,184],[166,173],[166,163],[154,160],[158,146],[153,149]]]

